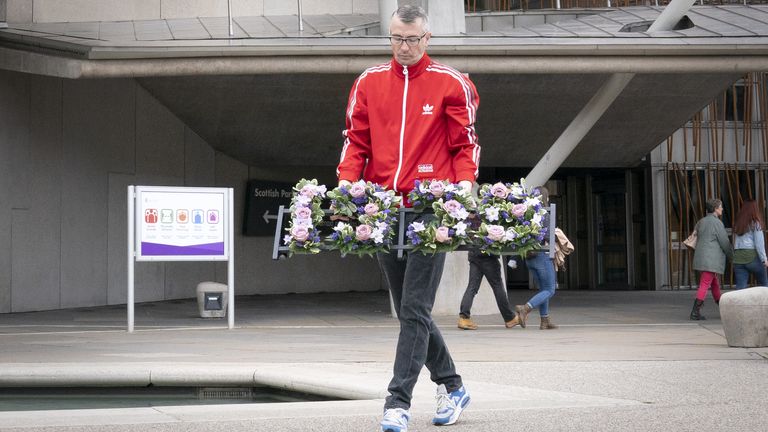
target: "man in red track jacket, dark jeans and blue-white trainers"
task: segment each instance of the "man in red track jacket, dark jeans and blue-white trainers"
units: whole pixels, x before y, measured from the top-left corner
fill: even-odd
[[[337,169],[340,186],[362,177],[403,195],[417,179],[472,187],[480,157],[474,127],[479,98],[466,76],[427,56],[430,37],[422,8],[395,11],[390,24],[394,58],[363,72],[350,92]],[[432,422],[453,424],[470,399],[431,317],[445,254],[413,253],[405,262],[379,254],[378,260],[400,320],[381,430],[407,431],[413,388],[424,365],[438,385]]]

